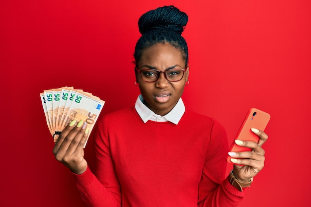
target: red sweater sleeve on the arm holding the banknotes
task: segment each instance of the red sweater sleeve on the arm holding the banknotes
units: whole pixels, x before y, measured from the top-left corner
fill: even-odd
[[[98,123],[94,130],[94,173],[87,167],[81,175],[74,174],[78,192],[89,207],[120,207],[121,193],[110,155],[106,127]]]

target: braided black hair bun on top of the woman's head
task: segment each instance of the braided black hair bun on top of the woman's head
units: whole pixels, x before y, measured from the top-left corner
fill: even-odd
[[[169,29],[181,34],[187,22],[188,15],[170,5],[144,13],[138,20],[138,27],[141,34],[154,29]]]

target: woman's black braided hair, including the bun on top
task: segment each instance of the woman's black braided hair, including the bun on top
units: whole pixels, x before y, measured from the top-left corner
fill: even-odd
[[[188,15],[173,5],[158,7],[144,13],[138,20],[142,36],[135,46],[135,63],[140,61],[143,52],[157,43],[169,43],[179,49],[188,64],[188,46],[181,36],[188,22]]]

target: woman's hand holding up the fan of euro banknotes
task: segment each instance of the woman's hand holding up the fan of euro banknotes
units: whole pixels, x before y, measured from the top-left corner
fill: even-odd
[[[88,131],[86,122],[79,121],[76,125],[76,120],[73,120],[62,131],[53,148],[55,158],[77,174],[82,174],[87,168],[83,147]]]

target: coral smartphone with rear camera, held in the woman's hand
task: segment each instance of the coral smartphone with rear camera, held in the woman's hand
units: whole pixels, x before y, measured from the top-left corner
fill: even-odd
[[[240,129],[238,130],[238,133],[236,134],[235,139],[239,140],[251,140],[258,143],[259,137],[255,135],[250,129],[256,128],[258,130],[264,131],[268,122],[270,120],[270,114],[261,111],[256,108],[249,109],[248,113],[246,114],[246,117],[243,121],[243,124],[241,125]],[[239,152],[239,151],[251,151],[251,148],[243,147],[235,144],[233,140],[233,143],[229,149],[229,151],[233,152]],[[227,162],[236,164],[231,162],[229,155],[227,156]]]

